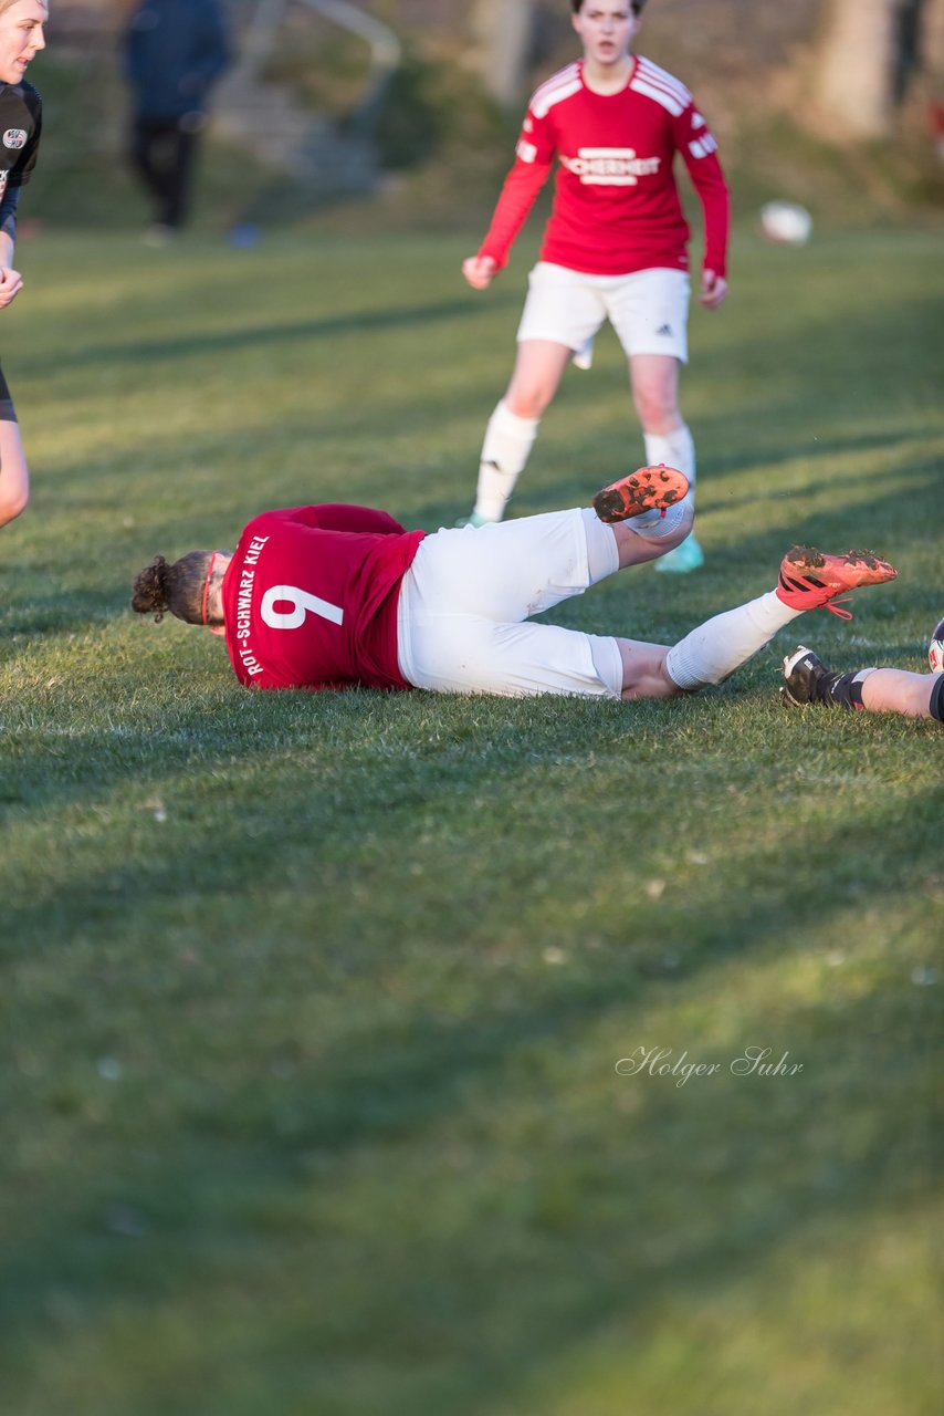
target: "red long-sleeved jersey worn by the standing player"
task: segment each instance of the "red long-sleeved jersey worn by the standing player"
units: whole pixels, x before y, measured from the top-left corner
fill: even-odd
[[[627,86],[607,95],[586,86],[582,61],[570,64],[531,99],[478,253],[505,265],[556,154],[542,261],[587,275],[685,270],[689,229],[672,171],[681,153],[705,214],[705,269],[725,275],[729,201],[716,147],[685,85],[650,59],[634,57]]]

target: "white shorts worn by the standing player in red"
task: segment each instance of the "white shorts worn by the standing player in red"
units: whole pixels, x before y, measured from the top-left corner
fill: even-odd
[[[553,340],[575,354],[586,351],[604,320],[616,330],[626,357],[672,354],[688,362],[685,270],[635,270],[633,275],[583,275],[539,261],[528,276],[528,297],[518,326],[521,340]]]

